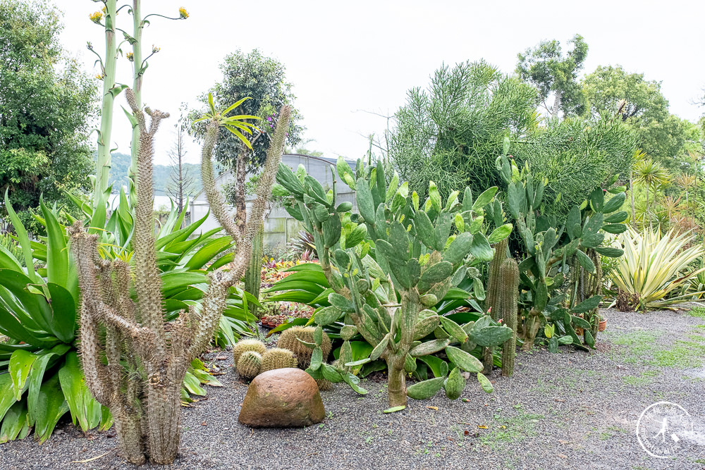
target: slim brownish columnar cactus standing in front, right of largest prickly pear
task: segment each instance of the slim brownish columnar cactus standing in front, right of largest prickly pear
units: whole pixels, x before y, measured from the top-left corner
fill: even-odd
[[[517,354],[517,297],[519,295],[517,261],[513,258],[505,259],[499,269],[499,276],[503,284],[497,304],[497,316],[514,332],[512,337],[502,345],[502,375],[509,377],[514,373],[514,357]]]

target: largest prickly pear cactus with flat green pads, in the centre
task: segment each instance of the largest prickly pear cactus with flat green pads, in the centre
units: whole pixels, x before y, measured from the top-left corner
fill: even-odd
[[[312,233],[331,287],[326,292],[329,307],[314,314],[318,326],[309,344],[313,349],[307,371],[314,378],[345,381],[365,392],[350,368],[384,359],[391,407],[404,406],[407,395],[423,399],[441,388],[448,397],[457,398],[465,386],[460,370],[477,373],[483,388],[491,391],[481,373],[482,362],[468,351],[476,345],[499,345],[513,331],[490,316],[461,326],[439,316],[434,306],[466,279],[469,270],[477,271],[475,265],[493,258],[491,243],[510,234],[511,225],[495,224],[497,228],[486,235],[485,216],[502,220],[501,207],[495,210],[497,188],[474,200],[470,188],[462,201],[453,192],[443,204],[431,182],[429,197],[421,202],[418,194],[409,194],[407,183],[399,185],[396,173],[386,174],[381,161],[367,166],[357,161],[353,171],[338,159],[337,170],[338,177],[355,191],[359,214],[351,212],[348,202],[336,206],[335,190],[326,193],[302,167],[293,173],[280,164],[277,173],[277,182],[289,195],[285,207]],[[340,357],[337,364],[325,364],[322,327],[341,322]],[[369,357],[353,361],[350,339],[355,335],[372,345]],[[439,376],[407,389],[405,377],[415,371],[416,358],[439,352],[453,364],[450,373],[446,366]]]

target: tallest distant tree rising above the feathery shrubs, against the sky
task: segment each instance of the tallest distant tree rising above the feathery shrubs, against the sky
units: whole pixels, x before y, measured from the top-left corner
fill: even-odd
[[[585,98],[577,82],[577,74],[582,70],[587,56],[587,42],[581,35],[575,35],[568,44],[572,44],[573,48],[565,57],[556,39],[542,41],[534,49],[517,54],[517,75],[539,89],[541,102],[553,118],[558,117],[559,110],[565,116],[580,116],[585,111]],[[549,109],[546,100],[551,93],[553,106]]]

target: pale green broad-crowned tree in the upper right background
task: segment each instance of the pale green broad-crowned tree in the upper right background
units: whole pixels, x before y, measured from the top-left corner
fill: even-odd
[[[682,159],[699,140],[697,125],[668,111],[661,82],[644,80],[642,73],[627,73],[622,66],[598,67],[582,80],[582,89],[593,116],[619,111],[633,128],[639,146],[662,166],[680,173]]]

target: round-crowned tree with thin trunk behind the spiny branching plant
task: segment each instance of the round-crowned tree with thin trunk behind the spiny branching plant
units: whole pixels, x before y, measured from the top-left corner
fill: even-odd
[[[291,92],[292,85],[286,81],[286,68],[283,64],[274,58],[262,56],[257,49],[250,54],[245,54],[239,49],[233,54],[228,54],[220,68],[223,79],[209,89],[216,108],[246,99],[238,108],[239,112],[262,119],[257,124],[260,132],[247,133],[249,131],[242,129],[234,129],[233,132],[221,128],[214,149],[215,159],[221,164],[223,171],[235,172],[235,184],[229,189],[234,194],[229,194],[227,199],[235,202],[240,217],[240,214],[245,214],[247,173],[258,173],[262,168],[274,123],[278,119],[277,110],[285,104],[292,104],[295,97]],[[207,94],[202,94],[200,101],[207,104]],[[198,111],[192,111],[190,116],[198,114]],[[286,137],[288,147],[294,147],[300,140],[303,128],[297,123],[299,119],[298,112],[293,110]],[[197,126],[191,132],[197,137],[202,137],[204,130],[203,126]],[[243,139],[250,142],[252,149],[247,147]],[[239,218],[238,225],[243,225]]]

